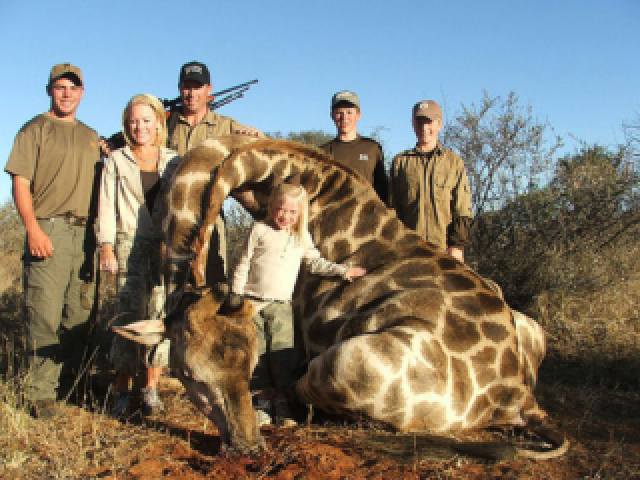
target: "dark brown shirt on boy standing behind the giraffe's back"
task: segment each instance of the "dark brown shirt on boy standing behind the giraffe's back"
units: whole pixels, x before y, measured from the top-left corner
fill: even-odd
[[[354,140],[345,142],[337,137],[321,145],[325,153],[333,155],[333,159],[355,170],[373,186],[380,200],[388,200],[387,174],[384,171],[384,155],[382,147],[375,140],[358,135]]]

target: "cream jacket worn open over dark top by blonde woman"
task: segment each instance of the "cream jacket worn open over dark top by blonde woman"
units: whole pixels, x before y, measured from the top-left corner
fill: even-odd
[[[176,152],[160,147],[158,175],[161,182],[168,182],[179,162]],[[159,201],[160,197],[156,203]],[[115,150],[105,161],[102,171],[96,221],[98,243],[115,244],[116,233],[161,238],[162,226],[153,222],[151,213],[145,204],[140,167],[131,147],[127,145]]]

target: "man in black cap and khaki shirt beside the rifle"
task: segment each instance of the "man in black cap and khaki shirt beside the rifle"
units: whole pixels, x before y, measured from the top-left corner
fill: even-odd
[[[178,81],[182,109],[167,119],[167,146],[183,156],[189,149],[209,138],[220,135],[243,134],[263,137],[254,127],[241,125],[230,117],[209,109],[209,96],[213,90],[209,69],[204,63],[189,62],[180,68]],[[217,249],[217,254],[215,250]],[[211,250],[207,264],[207,283],[226,280],[227,242],[224,219],[218,216],[211,235]]]

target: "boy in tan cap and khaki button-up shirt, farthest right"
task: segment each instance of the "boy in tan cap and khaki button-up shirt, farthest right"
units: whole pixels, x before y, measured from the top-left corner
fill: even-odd
[[[443,126],[440,105],[418,102],[411,119],[417,142],[393,159],[390,206],[407,227],[464,262],[473,218],[464,162],[438,142]]]

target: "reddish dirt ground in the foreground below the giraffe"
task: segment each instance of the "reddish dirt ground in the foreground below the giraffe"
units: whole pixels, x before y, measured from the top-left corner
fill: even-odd
[[[176,381],[164,379],[161,393],[167,405],[164,414],[144,420],[134,415],[131,423],[114,420],[109,427],[102,427],[136,432],[142,428],[146,432],[140,448],[132,451],[129,458],[120,459],[124,466],[114,469],[103,464],[81,472],[82,477],[640,478],[640,412],[638,395],[634,393],[542,388],[538,393],[540,403],[570,440],[569,452],[552,460],[516,458],[502,462],[459,456],[398,461],[368,445],[367,438],[378,435],[379,430],[346,422],[287,429],[263,427],[268,450],[252,458],[226,456],[220,453],[215,426],[194,409]],[[466,439],[501,440],[486,432],[469,434]]]

